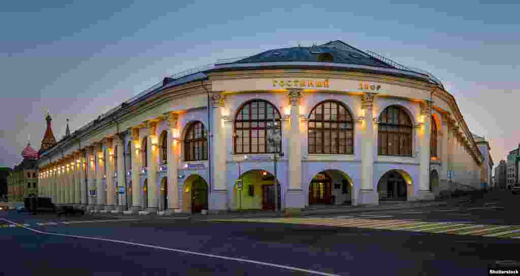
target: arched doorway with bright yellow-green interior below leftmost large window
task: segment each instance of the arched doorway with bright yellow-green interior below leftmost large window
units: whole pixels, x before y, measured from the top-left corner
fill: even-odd
[[[253,169],[243,173],[233,187],[235,208],[240,210],[274,210],[275,182],[278,184],[278,209],[281,209],[280,181],[267,170]]]

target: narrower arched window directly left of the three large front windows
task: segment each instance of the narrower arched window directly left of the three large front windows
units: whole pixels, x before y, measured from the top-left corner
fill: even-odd
[[[207,160],[207,137],[204,124],[195,122],[188,126],[184,138],[184,160]]]

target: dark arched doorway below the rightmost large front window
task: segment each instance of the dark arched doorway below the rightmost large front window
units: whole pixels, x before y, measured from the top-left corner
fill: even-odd
[[[402,170],[389,170],[378,182],[379,200],[402,200],[408,199],[408,189],[411,187],[410,176]]]

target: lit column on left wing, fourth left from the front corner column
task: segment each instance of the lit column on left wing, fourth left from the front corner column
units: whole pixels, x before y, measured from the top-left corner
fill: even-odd
[[[137,213],[141,209],[141,145],[139,143],[139,128],[132,128],[132,212]]]

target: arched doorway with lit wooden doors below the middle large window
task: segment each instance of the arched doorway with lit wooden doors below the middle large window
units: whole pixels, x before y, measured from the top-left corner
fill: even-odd
[[[309,183],[309,205],[351,204],[354,182],[341,170],[317,173]]]

